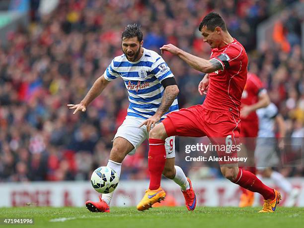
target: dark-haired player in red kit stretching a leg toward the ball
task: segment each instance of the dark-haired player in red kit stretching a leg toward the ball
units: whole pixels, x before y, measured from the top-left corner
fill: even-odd
[[[207,73],[200,83],[201,91],[208,88],[207,97],[202,105],[181,109],[167,115],[155,125],[149,134],[150,150],[148,167],[150,186],[137,209],[144,211],[165,197],[160,187],[161,173],[165,165],[164,140],[171,135],[203,137],[208,136],[213,144],[236,145],[240,131],[240,99],[246,84],[248,58],[244,47],[227,31],[225,21],[216,12],[207,14],[199,26],[204,42],[212,48],[211,59],[203,59],[182,51],[172,44],[160,50],[177,55],[196,70]],[[145,120],[148,128],[156,122]],[[227,144],[226,144],[227,143]],[[232,147],[231,147],[232,148]],[[234,146],[235,148],[235,146]],[[281,194],[266,186],[253,173],[238,168],[237,161],[225,161],[227,157],[237,158],[236,151],[227,154],[218,151],[221,171],[231,182],[264,197],[260,212],[274,212]],[[193,196],[192,205],[196,205]]]

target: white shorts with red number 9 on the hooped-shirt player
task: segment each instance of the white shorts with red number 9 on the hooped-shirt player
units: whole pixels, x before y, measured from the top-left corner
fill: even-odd
[[[145,139],[149,139],[147,126],[144,125],[139,127],[139,125],[144,121],[145,119],[143,118],[127,115],[124,122],[117,129],[114,139],[122,137],[127,139],[134,146],[134,149],[129,153],[129,155],[134,155],[136,148],[138,148]],[[166,138],[165,149],[166,158],[175,158],[175,136]]]

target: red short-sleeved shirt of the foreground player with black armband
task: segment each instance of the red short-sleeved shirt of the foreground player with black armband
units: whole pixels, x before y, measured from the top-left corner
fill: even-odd
[[[203,106],[211,111],[229,111],[239,118],[240,100],[247,79],[246,51],[233,39],[221,49],[212,49],[210,58],[220,61],[223,70],[209,74],[209,88]]]

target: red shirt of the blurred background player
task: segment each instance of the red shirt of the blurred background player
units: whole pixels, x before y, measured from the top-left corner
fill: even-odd
[[[258,76],[248,72],[247,81],[242,93],[241,107],[244,105],[253,105],[257,103],[259,100],[259,93],[263,89],[263,83],[258,78]],[[241,120],[258,121],[258,117],[255,112],[252,112],[246,118],[242,117]]]

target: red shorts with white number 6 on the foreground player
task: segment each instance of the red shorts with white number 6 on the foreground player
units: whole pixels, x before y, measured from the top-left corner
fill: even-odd
[[[167,114],[162,120],[166,133],[169,136],[178,135],[185,137],[207,136],[214,145],[238,144],[240,121],[230,112],[215,112],[206,110],[203,105],[191,106],[177,112]],[[237,152],[217,151],[218,157],[237,158]],[[220,164],[237,163],[229,161]]]

